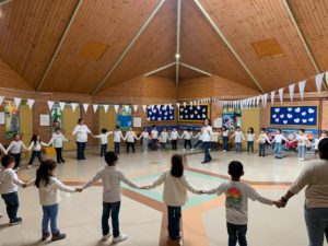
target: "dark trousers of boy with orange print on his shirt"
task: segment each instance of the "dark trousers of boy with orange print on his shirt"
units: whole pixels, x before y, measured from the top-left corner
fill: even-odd
[[[247,246],[246,233],[247,233],[247,224],[232,224],[226,222],[226,230],[229,235],[229,246],[236,246],[237,242],[239,242],[241,246]]]

